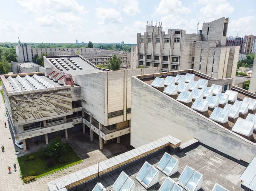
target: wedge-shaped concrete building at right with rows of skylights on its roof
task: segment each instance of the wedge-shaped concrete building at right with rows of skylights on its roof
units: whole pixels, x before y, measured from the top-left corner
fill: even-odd
[[[185,98],[191,99],[189,101],[185,100],[185,103],[179,97],[182,97],[184,92],[181,91],[180,93],[176,92],[175,94],[168,95],[166,94],[168,88],[166,89],[165,86],[163,86],[163,88],[154,88],[151,86],[151,83],[156,77],[160,77],[161,79],[169,76],[182,77],[181,79],[184,79],[185,74],[194,74],[195,81],[205,81],[206,84],[203,89],[206,91],[202,91],[202,93],[212,92],[212,89],[209,87],[218,85],[221,88],[218,89],[215,94],[221,92],[226,93],[227,90],[231,90],[237,98],[236,96],[228,96],[227,92],[225,102],[222,102],[222,99],[219,100],[217,97],[219,102],[216,101],[217,104],[214,107],[211,106],[212,108],[210,108],[209,106],[208,108],[208,101],[203,101],[204,103],[206,102],[206,110],[200,111],[193,109],[192,104],[195,103],[195,101],[192,100],[192,92],[185,91],[187,94]],[[137,148],[171,133],[172,136],[181,140],[182,143],[195,138],[199,142],[215,149],[215,151],[223,152],[241,162],[250,162],[253,157],[256,156],[256,134],[253,133],[254,124],[250,124],[252,125],[250,126],[251,134],[247,136],[237,133],[233,127],[236,125],[236,120],[243,121],[248,113],[255,114],[256,110],[248,110],[247,108],[248,113],[244,115],[241,114],[243,111],[237,110],[240,113],[237,113],[236,120],[232,120],[228,117],[230,115],[227,116],[229,111],[226,109],[224,109],[226,113],[224,114],[225,117],[222,116],[222,121],[215,120],[213,117],[215,111],[220,110],[220,112],[222,112],[221,108],[225,108],[227,102],[232,106],[232,104],[236,105],[234,102],[245,102],[248,98],[256,99],[256,94],[254,92],[252,93],[236,86],[232,86],[232,82],[232,78],[215,79],[195,70],[171,71],[132,77],[131,145]],[[175,88],[175,85],[172,86]],[[196,88],[195,91],[198,91],[198,89]],[[219,95],[222,97],[224,94]],[[204,99],[205,97],[207,97],[207,95],[204,95]],[[208,100],[208,98],[206,99]],[[203,96],[201,100],[203,100]],[[247,103],[244,104],[247,105]],[[242,128],[242,125],[240,125],[240,128]]]

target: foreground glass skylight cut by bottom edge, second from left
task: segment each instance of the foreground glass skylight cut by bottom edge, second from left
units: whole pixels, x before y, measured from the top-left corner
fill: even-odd
[[[134,191],[135,182],[125,174],[124,171],[121,172],[119,177],[116,179],[111,187],[111,191]]]

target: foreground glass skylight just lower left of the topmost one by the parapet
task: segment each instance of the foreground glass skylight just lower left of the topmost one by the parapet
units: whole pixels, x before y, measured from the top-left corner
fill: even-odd
[[[148,162],[140,168],[135,177],[145,188],[149,188],[158,182],[159,171]]]

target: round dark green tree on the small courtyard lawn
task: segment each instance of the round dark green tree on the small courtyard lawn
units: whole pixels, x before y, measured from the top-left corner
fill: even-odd
[[[51,158],[58,158],[65,152],[65,145],[64,143],[61,143],[61,140],[59,137],[56,137],[51,140],[49,145],[47,145],[46,148],[46,155]]]

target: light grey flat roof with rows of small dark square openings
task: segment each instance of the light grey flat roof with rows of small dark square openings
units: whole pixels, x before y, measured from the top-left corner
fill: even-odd
[[[96,67],[88,60],[79,55],[46,56],[45,58],[52,65],[53,68],[66,74],[70,74],[72,76],[109,71],[108,69]]]

